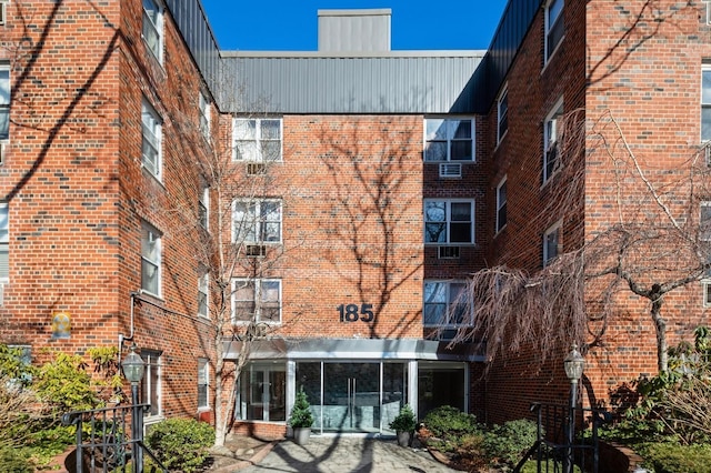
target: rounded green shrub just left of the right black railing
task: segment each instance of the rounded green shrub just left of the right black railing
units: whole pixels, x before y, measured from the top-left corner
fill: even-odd
[[[514,466],[538,439],[535,422],[519,419],[494,425],[484,434],[483,447],[490,460]]]

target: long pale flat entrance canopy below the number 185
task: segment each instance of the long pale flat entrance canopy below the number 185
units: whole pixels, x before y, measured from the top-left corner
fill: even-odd
[[[224,342],[224,359],[236,360],[243,342]],[[483,362],[483,343],[418,339],[264,339],[249,342],[251,360],[433,360]]]

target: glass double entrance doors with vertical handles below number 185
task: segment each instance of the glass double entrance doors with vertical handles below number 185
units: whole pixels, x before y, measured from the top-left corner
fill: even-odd
[[[323,363],[323,431],[380,431],[380,363]]]

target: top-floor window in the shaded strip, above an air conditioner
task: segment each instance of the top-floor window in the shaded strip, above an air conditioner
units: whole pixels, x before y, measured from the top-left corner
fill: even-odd
[[[473,161],[474,121],[471,119],[427,119],[424,161]]]

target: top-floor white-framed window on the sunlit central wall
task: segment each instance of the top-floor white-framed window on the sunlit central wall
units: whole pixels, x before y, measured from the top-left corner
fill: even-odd
[[[234,119],[236,161],[281,161],[281,119]]]

